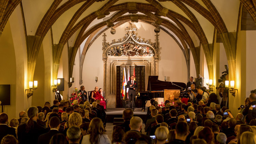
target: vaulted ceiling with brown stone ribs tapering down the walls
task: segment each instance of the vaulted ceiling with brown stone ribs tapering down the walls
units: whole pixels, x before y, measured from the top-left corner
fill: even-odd
[[[192,52],[197,73],[202,47],[211,77],[212,43],[214,34],[218,33],[227,53],[232,77],[236,47],[229,33],[237,31],[242,5],[256,22],[256,0],[3,0],[0,3],[0,34],[16,6],[21,6],[27,36],[28,74],[32,79],[40,46],[49,31],[53,40],[54,77],[57,77],[66,43],[72,77],[75,55],[81,43],[86,40],[81,56],[84,58],[102,31],[127,21],[160,26],[175,39],[184,55],[189,54],[188,49]]]

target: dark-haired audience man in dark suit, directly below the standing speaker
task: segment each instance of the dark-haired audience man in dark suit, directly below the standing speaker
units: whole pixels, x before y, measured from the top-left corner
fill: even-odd
[[[129,131],[131,129],[129,125],[132,117],[133,117],[133,111],[130,108],[125,109],[123,111],[124,123],[114,126],[113,129],[115,129],[116,127],[123,127],[125,132]]]

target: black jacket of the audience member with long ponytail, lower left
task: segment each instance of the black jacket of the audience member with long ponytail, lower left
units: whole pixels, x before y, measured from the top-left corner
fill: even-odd
[[[17,137],[19,144],[36,144],[38,143],[38,137],[41,134],[47,132],[47,129],[34,122],[34,128],[28,133],[26,132],[26,123],[21,124],[17,127]]]

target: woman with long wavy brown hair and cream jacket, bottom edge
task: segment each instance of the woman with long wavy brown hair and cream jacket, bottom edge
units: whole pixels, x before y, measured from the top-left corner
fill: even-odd
[[[87,130],[87,135],[83,137],[82,144],[111,144],[108,135],[104,134],[103,122],[99,118],[93,118]]]

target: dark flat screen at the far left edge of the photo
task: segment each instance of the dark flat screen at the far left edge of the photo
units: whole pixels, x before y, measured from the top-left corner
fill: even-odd
[[[11,85],[0,85],[1,105],[11,105]]]

